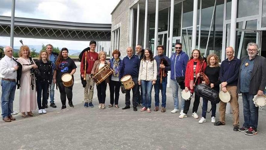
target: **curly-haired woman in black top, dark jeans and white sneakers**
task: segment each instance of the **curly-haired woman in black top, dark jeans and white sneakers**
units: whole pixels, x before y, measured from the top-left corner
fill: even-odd
[[[207,57],[207,63],[208,66],[205,69],[205,74],[210,80],[210,87],[219,92],[219,84],[221,83],[219,81],[219,58],[216,54],[211,54]],[[215,123],[215,113],[216,113],[216,103],[211,102],[212,105],[212,119],[211,122]],[[203,105],[202,105],[202,118],[200,119],[199,123],[206,122],[206,112],[208,108],[208,100],[206,98],[203,98]]]

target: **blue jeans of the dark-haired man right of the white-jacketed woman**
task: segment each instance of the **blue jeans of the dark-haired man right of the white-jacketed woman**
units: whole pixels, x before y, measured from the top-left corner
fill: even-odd
[[[162,79],[162,84],[160,84],[160,78],[157,77],[156,83],[154,84],[155,106],[159,106],[160,104],[160,100],[159,100],[160,88],[161,88],[161,93],[162,93],[162,107],[166,106],[166,85],[167,85],[167,77],[164,77]]]

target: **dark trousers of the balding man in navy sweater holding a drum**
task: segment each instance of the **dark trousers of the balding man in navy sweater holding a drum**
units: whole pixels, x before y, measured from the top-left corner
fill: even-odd
[[[133,107],[137,107],[137,98],[138,98],[138,77],[132,77],[133,82],[135,83],[135,86],[132,88],[133,92],[133,98],[132,98],[132,104]],[[130,106],[130,90],[126,90],[126,99],[125,99],[125,104],[126,106]]]

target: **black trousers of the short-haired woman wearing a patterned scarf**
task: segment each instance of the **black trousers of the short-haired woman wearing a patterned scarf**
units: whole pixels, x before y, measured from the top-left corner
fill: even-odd
[[[111,80],[109,83],[110,104],[112,105],[114,105],[114,100],[115,100],[115,105],[118,105],[120,86],[121,86],[121,83],[119,81]],[[115,98],[114,98],[114,94],[115,94]]]

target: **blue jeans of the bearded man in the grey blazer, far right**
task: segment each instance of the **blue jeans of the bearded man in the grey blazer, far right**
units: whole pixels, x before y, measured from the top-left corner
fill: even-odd
[[[253,103],[253,94],[249,94],[248,92],[242,93],[243,99],[243,112],[244,112],[244,124],[243,127],[252,127],[257,128],[258,126],[258,114],[259,108],[255,106]]]

